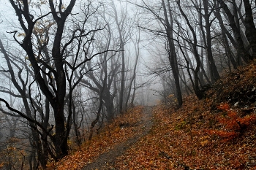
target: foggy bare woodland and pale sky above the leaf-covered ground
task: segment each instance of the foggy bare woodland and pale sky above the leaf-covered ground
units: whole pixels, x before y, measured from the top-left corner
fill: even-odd
[[[1,0],[0,151],[26,147],[26,167],[44,169],[132,107],[203,98],[254,58],[254,12],[247,0]]]

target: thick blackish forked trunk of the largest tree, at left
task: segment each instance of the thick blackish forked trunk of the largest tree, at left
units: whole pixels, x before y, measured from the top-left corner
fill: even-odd
[[[50,5],[50,12],[34,20],[34,16],[31,15],[29,10],[29,1],[23,0],[16,3],[14,0],[10,0],[10,3],[12,4],[12,7],[15,9],[16,15],[18,16],[20,26],[23,28],[23,31],[25,31],[26,34],[22,43],[18,42],[16,39],[15,40],[21,47],[23,47],[23,50],[26,51],[33,69],[34,78],[37,81],[37,85],[39,85],[40,90],[42,90],[45,98],[47,98],[50,106],[53,108],[56,134],[53,136],[52,140],[56,150],[56,159],[58,160],[68,154],[68,133],[66,131],[67,128],[65,127],[64,118],[64,98],[66,96],[67,88],[66,75],[64,72],[64,50],[66,50],[65,47],[67,46],[61,47],[61,39],[64,33],[64,24],[66,23],[67,17],[72,12],[75,1],[76,0],[71,0],[64,11],[61,9],[62,1],[59,1],[59,12],[57,12],[53,1],[49,0],[48,3]],[[51,57],[54,61],[54,69],[51,68],[51,66],[48,66],[47,63],[38,61],[38,58],[34,55],[34,47],[32,42],[32,34],[35,24],[38,20],[44,18],[47,15],[50,15],[50,13],[53,16],[57,26],[56,34],[54,35],[53,40],[53,47],[51,50]],[[51,88],[48,86],[44,77],[42,76],[44,72],[42,72],[42,69],[40,68],[41,62],[43,66],[48,68],[49,72],[55,79],[54,81],[51,80],[52,75],[48,74],[48,78],[51,80],[51,82],[55,83],[55,85],[52,85]]]

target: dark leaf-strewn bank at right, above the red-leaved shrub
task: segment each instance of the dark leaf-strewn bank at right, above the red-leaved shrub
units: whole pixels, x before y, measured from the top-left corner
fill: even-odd
[[[213,95],[216,104],[229,102],[232,106],[255,107],[256,61],[240,66],[225,78],[218,80],[208,96]]]

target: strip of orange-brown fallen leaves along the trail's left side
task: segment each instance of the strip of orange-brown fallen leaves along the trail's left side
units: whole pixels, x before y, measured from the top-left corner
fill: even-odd
[[[91,141],[84,143],[78,152],[68,155],[56,164],[51,163],[48,169],[71,170],[83,168],[86,164],[94,161],[102,152],[110,150],[116,144],[120,144],[139,133],[142,129],[140,127],[142,112],[143,107],[135,107],[116,117],[112,123],[105,125]]]

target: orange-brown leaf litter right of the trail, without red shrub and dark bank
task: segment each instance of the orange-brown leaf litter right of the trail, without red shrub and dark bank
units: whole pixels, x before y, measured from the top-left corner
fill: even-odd
[[[189,96],[178,111],[156,107],[151,133],[118,158],[116,169],[256,169],[255,124],[222,142],[206,131],[225,128],[211,102]]]

